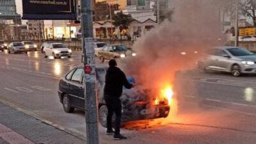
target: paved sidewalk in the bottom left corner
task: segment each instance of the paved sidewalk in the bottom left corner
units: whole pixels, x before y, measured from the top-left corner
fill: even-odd
[[[81,138],[0,102],[0,144],[80,144]]]

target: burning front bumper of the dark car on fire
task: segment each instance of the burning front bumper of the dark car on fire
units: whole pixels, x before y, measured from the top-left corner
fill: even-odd
[[[136,108],[123,109],[122,122],[131,120],[148,120],[155,118],[166,118],[169,115],[170,106],[154,106],[150,109]]]

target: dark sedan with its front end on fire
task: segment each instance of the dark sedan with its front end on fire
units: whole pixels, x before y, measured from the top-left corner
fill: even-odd
[[[77,67],[70,70],[68,74],[60,79],[58,95],[60,102],[63,104],[63,109],[67,113],[74,112],[75,108],[84,110],[83,72],[82,67]],[[106,127],[106,116],[108,113],[108,108],[103,97],[105,75],[106,67],[96,68],[99,121],[103,127]],[[170,106],[168,106],[168,102],[160,102],[159,104],[150,103],[145,90],[140,92],[138,90],[124,89],[120,100],[123,106],[122,122],[163,118],[169,115]]]

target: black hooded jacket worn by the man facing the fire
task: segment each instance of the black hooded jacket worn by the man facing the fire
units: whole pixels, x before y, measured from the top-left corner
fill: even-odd
[[[104,94],[112,97],[121,97],[123,86],[127,89],[132,88],[132,84],[129,84],[124,72],[118,67],[108,68],[105,83]]]

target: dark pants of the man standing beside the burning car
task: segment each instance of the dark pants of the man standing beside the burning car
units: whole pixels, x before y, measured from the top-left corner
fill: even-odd
[[[116,115],[115,119],[115,134],[120,134],[120,125],[121,125],[121,116],[122,116],[122,104],[119,97],[104,95],[108,107],[108,116],[107,116],[107,127],[108,131],[112,129],[112,116],[113,113]]]

